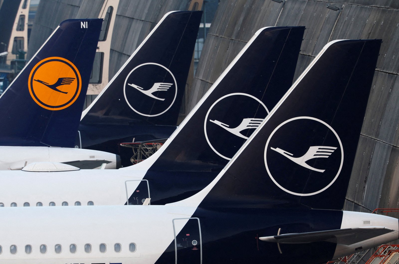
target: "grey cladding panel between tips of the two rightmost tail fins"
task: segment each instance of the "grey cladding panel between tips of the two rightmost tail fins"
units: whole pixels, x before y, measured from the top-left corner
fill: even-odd
[[[301,54],[316,56],[329,41],[339,12],[314,1],[287,1],[277,25],[306,26]]]

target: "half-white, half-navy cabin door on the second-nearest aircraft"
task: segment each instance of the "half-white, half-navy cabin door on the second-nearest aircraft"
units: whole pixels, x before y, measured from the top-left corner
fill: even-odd
[[[125,181],[125,189],[128,205],[142,205],[146,198],[151,198],[148,180]]]

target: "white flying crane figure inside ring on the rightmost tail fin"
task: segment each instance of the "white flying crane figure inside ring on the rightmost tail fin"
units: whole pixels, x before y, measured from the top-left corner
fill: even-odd
[[[302,157],[292,157],[294,154],[289,153],[285,150],[282,150],[280,148],[272,148],[274,151],[279,152],[281,155],[284,157],[287,157],[288,159],[294,161],[296,164],[301,165],[302,167],[305,167],[306,169],[311,169],[313,171],[318,171],[318,172],[324,172],[325,170],[321,169],[316,169],[314,167],[309,166],[306,164],[306,161],[310,159],[316,159],[316,158],[328,158],[330,155],[336,150],[336,147],[326,147],[326,146],[311,146],[309,147],[308,151],[302,156]]]

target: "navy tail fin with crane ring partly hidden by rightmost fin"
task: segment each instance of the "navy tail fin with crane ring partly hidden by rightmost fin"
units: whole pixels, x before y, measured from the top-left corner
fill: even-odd
[[[292,85],[304,30],[259,29],[157,151],[151,170],[183,161],[224,167]]]

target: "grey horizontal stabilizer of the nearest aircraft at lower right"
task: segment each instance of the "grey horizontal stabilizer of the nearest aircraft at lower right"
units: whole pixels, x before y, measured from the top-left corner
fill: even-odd
[[[327,241],[342,245],[352,245],[360,241],[371,239],[373,237],[378,237],[380,235],[384,235],[393,231],[394,230],[388,229],[386,227],[370,226],[276,235],[270,237],[259,237],[259,239],[266,242],[286,244]]]

